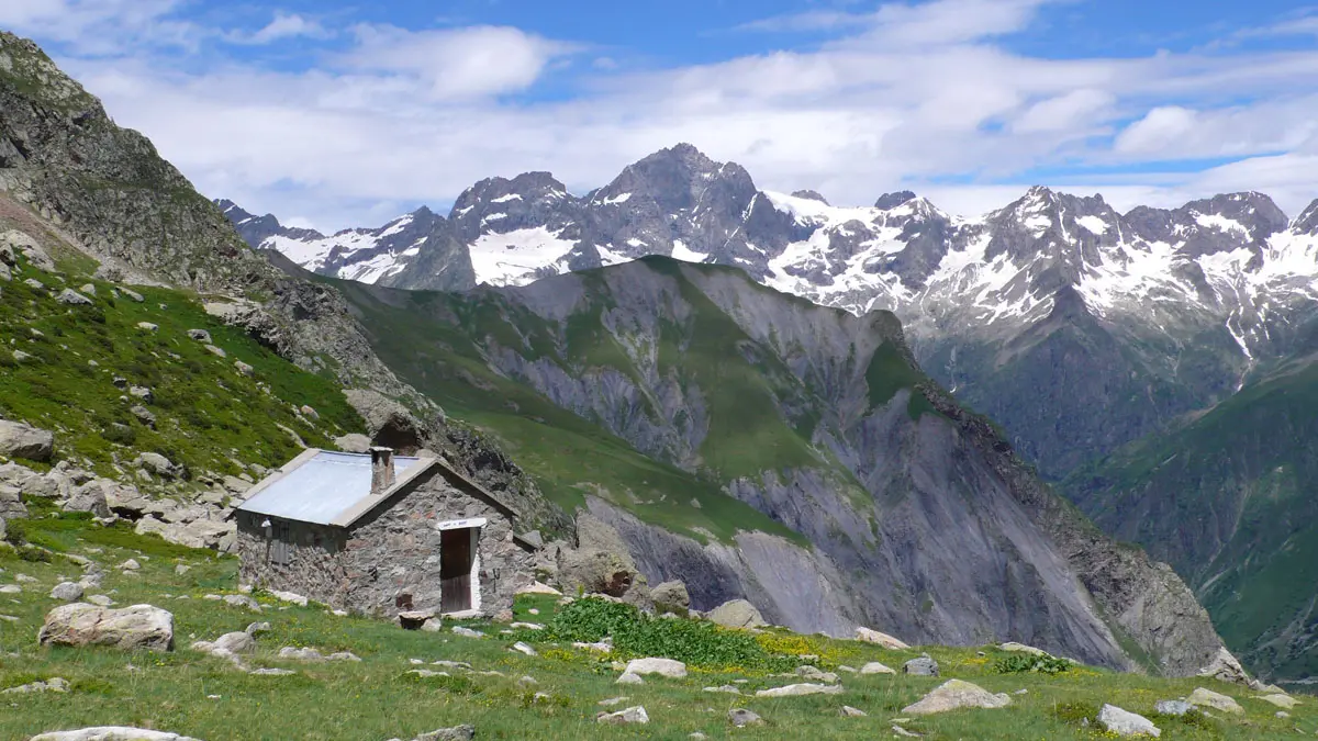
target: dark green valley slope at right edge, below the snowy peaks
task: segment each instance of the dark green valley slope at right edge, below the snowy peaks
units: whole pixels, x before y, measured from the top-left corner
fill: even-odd
[[[1174,434],[1149,438],[1072,477],[1068,488],[1108,527],[1160,502],[1136,539],[1166,547],[1178,523],[1224,518],[1215,552],[1166,554],[1214,618],[1223,639],[1256,667],[1318,674],[1318,647],[1294,653],[1273,641],[1318,597],[1318,364],[1246,386]],[[1077,493],[1079,492],[1079,493]],[[1172,514],[1169,514],[1172,513]],[[1211,513],[1211,514],[1210,514]],[[1284,642],[1282,642],[1284,643]]]

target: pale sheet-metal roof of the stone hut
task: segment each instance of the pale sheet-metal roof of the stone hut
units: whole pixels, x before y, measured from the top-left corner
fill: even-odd
[[[394,480],[419,461],[419,458],[394,456]],[[316,451],[268,481],[237,509],[330,525],[370,496],[370,455]]]

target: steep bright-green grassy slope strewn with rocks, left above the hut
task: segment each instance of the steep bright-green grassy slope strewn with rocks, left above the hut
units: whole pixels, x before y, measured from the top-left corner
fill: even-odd
[[[333,435],[361,429],[332,381],[219,323],[196,297],[138,286],[145,298],[138,303],[116,298],[112,283],[86,277],[94,265],[65,261],[61,268],[63,280],[26,268],[0,285],[0,414],[54,430],[57,458],[109,475],[116,461],[153,451],[192,471],[237,473],[231,458],[274,467],[297,455],[301,448],[281,425],[307,444],[327,447]],[[33,290],[26,278],[49,290]],[[88,282],[96,289],[91,306],[54,299],[62,289]],[[138,328],[140,322],[158,328]],[[188,338],[192,328],[208,331],[227,356]],[[16,363],[13,349],[33,357]],[[253,376],[239,373],[236,360],[252,365]],[[157,417],[154,430],[129,413],[138,401],[121,401],[127,390],[115,386],[116,376],[152,389],[154,400],[144,406]],[[319,421],[298,414],[302,405],[314,407]]]

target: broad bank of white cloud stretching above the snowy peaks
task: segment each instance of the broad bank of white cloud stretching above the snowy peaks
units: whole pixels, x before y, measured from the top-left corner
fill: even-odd
[[[745,165],[762,187],[813,187],[834,203],[911,187],[978,212],[1025,187],[995,182],[1021,182],[1033,167],[1224,156],[1247,160],[1085,187],[1114,203],[1172,204],[1214,189],[1275,189],[1289,211],[1311,199],[1296,160],[1268,158],[1318,154],[1318,51],[1045,59],[998,41],[1029,28],[1043,5],[884,5],[809,51],[641,73],[592,65],[597,55],[577,69],[587,47],[498,26],[360,25],[348,50],[327,47],[319,69],[298,74],[237,61],[183,74],[153,63],[150,49],[72,65],[203,193],[322,229],[382,223],[527,170],[584,193],[677,141]],[[510,98],[551,75],[576,94]],[[948,177],[977,185],[928,185]]]

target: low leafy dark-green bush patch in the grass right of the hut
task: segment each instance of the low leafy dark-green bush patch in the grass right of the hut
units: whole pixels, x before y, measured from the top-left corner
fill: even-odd
[[[791,671],[796,657],[764,650],[750,633],[729,630],[713,622],[660,618],[637,608],[585,597],[563,607],[544,630],[525,632],[531,641],[596,642],[613,637],[621,657],[666,657],[693,666]]]

